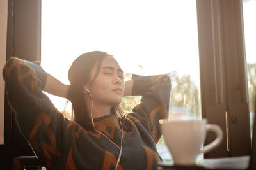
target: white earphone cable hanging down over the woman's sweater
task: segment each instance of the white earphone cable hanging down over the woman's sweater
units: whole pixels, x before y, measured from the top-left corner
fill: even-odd
[[[92,120],[92,125],[93,127],[95,127],[94,125],[94,121],[93,121],[93,118],[92,118],[92,109],[93,109],[93,99],[92,99],[92,94],[90,93],[90,91],[84,86],[84,89],[86,89],[86,91],[90,94],[90,97],[91,97],[91,101],[92,101],[92,107],[91,107],[91,120]],[[120,147],[118,145],[116,145],[113,141],[111,141],[105,134],[102,134],[102,132],[99,132],[96,128],[95,128],[95,131],[97,131],[99,134],[102,134],[106,139],[108,139],[111,143],[113,143],[118,149],[119,149],[119,155],[118,155],[118,159],[116,161],[116,167],[115,167],[115,170],[117,169],[118,167],[118,164],[120,162],[120,159],[121,159],[121,155],[122,155],[122,147],[123,147],[123,125],[122,125],[122,122],[121,122],[121,117],[119,118],[119,122],[120,122],[120,125],[121,125],[121,142],[120,142]]]

